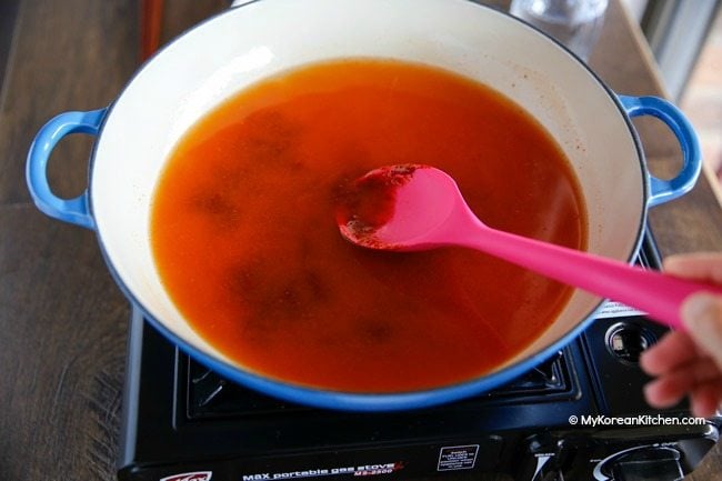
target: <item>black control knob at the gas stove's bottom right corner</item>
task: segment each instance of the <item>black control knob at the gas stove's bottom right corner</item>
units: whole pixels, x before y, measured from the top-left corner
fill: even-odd
[[[594,468],[596,481],[678,481],[682,454],[671,447],[644,445],[614,453]]]

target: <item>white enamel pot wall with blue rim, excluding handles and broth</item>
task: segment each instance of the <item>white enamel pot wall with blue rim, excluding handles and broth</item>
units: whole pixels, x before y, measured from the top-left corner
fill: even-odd
[[[513,99],[571,160],[586,203],[588,250],[623,261],[634,257],[650,181],[625,106],[545,36],[465,0],[261,0],[193,28],[148,62],[106,114],[91,164],[88,224],[97,229],[119,285],[148,319],[231,380],[287,400],[349,410],[419,408],[490,390],[572,339],[601,299],[576,291],[533,344],[489,375],[423,392],[351,394],[285,384],[234,364],[195,333],[159,279],[149,243],[151,196],[187,129],[265,77],[349,57],[440,67]]]

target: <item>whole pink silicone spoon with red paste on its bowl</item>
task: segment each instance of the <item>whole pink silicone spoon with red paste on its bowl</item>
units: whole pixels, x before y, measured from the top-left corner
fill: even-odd
[[[492,229],[464,201],[457,182],[429,166],[391,166],[358,179],[337,210],[341,234],[372,249],[477,249],[549,278],[646,312],[684,330],[680,305],[699,291],[722,288]]]

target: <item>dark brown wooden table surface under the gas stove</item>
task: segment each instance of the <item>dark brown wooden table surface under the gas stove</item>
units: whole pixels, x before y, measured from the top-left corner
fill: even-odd
[[[0,480],[113,480],[129,305],[94,234],[34,208],[24,160],[51,117],[118,96],[138,68],[139,2],[0,3]],[[163,41],[227,6],[167,0]],[[620,93],[663,96],[641,39],[612,1],[591,66]],[[635,123],[651,170],[672,172],[676,141],[655,121]],[[58,147],[49,166],[58,193],[84,189],[91,143],[73,136]],[[722,249],[722,211],[704,177],[650,223],[663,255]],[[718,444],[689,479],[721,471]]]

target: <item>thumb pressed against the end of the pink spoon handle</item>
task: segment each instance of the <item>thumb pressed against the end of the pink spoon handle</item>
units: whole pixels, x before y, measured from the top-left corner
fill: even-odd
[[[681,315],[690,337],[722,371],[722,298],[690,295],[682,303]]]

